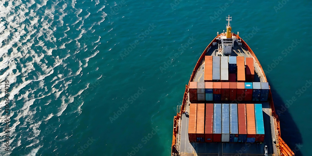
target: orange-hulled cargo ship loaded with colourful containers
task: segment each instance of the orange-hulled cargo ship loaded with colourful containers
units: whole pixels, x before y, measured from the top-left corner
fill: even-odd
[[[280,135],[270,85],[255,53],[217,32],[185,87],[173,120],[172,156],[295,155]]]

